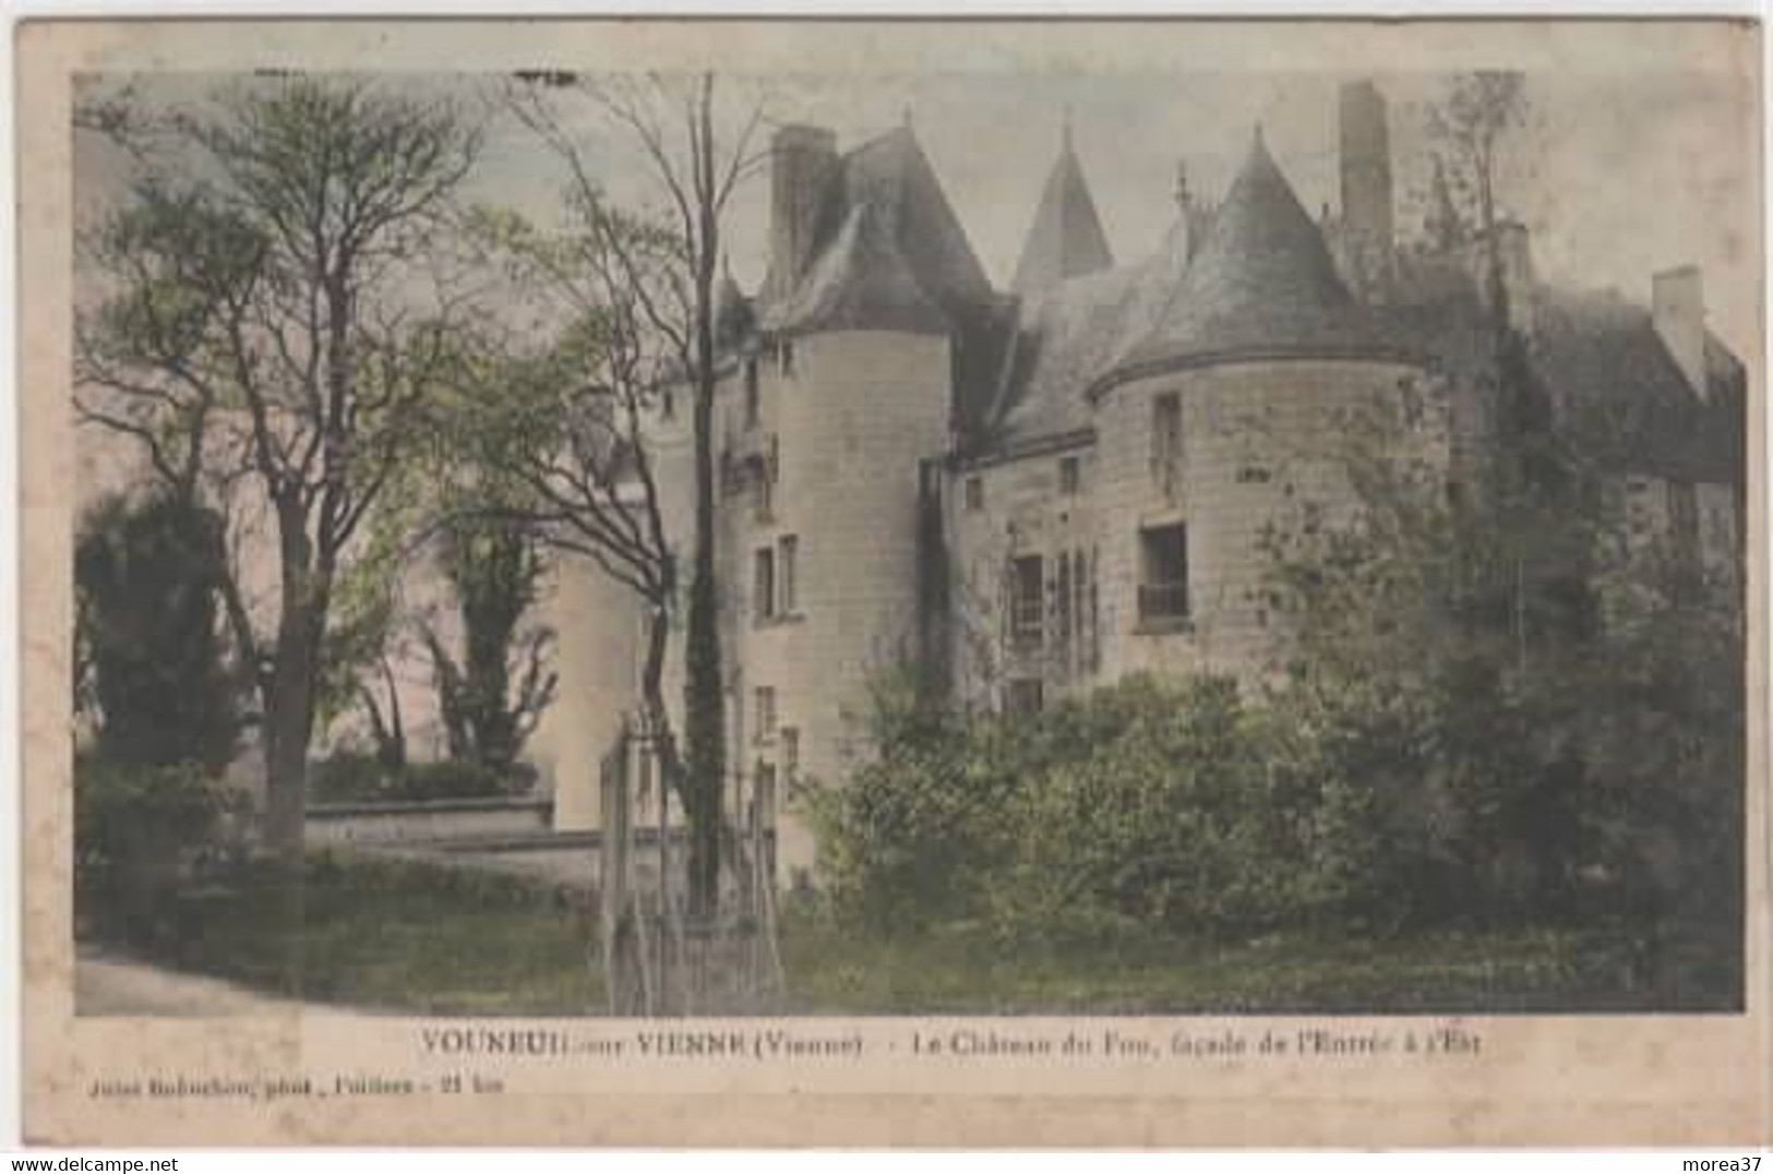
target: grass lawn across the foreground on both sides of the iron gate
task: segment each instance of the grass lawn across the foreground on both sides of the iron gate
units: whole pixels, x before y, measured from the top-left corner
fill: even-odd
[[[605,993],[582,903],[516,878],[316,855],[296,993],[406,1014],[598,1014]],[[177,970],[289,993],[280,990],[278,926],[271,885],[234,883],[184,892],[158,933],[112,926],[99,940]],[[1296,933],[1004,954],[966,927],[879,942],[789,913],[782,956],[787,1011],[805,1014],[1574,1013],[1732,1002],[1718,995],[1730,988],[1716,974],[1693,972],[1700,977],[1656,991],[1633,982],[1628,935],[1605,929],[1388,942]]]

